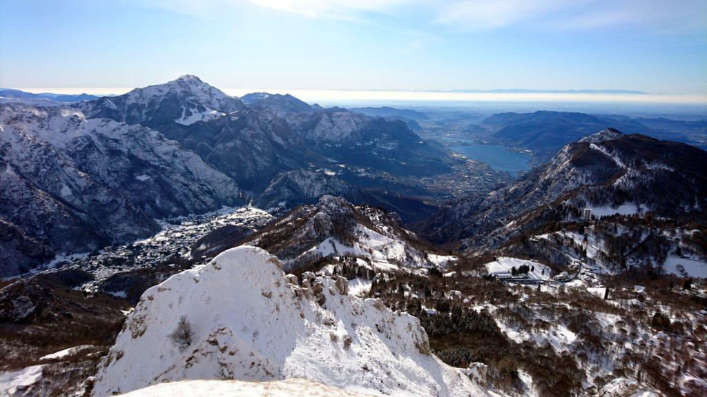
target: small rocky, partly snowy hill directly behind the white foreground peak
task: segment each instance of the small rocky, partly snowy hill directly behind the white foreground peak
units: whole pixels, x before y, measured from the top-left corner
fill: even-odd
[[[354,206],[344,198],[323,196],[300,206],[248,237],[245,244],[278,256],[286,271],[303,268],[326,256],[353,255],[374,268],[419,268],[450,260],[405,230],[395,213]]]

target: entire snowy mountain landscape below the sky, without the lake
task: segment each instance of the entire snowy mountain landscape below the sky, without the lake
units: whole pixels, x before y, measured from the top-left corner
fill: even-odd
[[[707,391],[707,152],[660,136],[701,122],[469,126],[196,76],[57,103],[0,104],[0,393]]]

